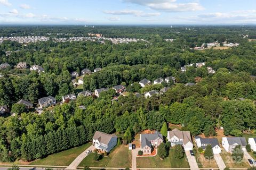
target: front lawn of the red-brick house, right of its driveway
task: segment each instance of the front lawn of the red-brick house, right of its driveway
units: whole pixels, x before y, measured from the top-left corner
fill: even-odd
[[[158,155],[155,157],[141,157],[137,158],[138,168],[189,168],[186,160],[186,154],[182,159],[174,158],[174,149],[170,149],[169,157],[161,160]]]

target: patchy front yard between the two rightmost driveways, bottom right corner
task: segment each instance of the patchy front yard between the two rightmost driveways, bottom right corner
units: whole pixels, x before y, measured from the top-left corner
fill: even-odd
[[[250,165],[247,162],[239,162],[236,163],[231,157],[231,154],[229,154],[226,150],[222,149],[220,156],[222,157],[224,163],[229,168],[247,168],[250,167]]]

